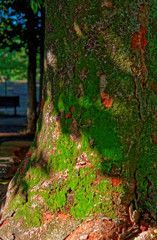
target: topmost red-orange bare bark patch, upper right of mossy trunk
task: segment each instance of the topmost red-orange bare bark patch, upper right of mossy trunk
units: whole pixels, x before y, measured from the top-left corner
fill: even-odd
[[[131,38],[131,50],[134,50],[138,47],[141,47],[143,51],[145,51],[145,47],[148,44],[148,41],[146,40],[146,33],[147,29],[146,27],[140,25],[140,33],[135,32]]]

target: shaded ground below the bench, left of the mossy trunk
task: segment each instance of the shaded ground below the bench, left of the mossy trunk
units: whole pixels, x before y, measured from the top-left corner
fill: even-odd
[[[26,116],[0,115],[0,219],[8,185],[34,139]]]

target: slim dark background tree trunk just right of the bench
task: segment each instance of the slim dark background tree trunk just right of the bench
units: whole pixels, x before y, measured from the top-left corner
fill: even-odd
[[[27,129],[32,132],[36,129],[36,55],[37,38],[35,32],[35,15],[31,8],[27,12],[28,31],[28,106]]]

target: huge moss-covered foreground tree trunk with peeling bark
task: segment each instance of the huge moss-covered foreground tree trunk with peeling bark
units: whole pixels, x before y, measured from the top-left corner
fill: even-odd
[[[47,0],[36,138],[9,186],[13,222],[45,223],[40,239],[134,239],[155,223],[154,11]]]

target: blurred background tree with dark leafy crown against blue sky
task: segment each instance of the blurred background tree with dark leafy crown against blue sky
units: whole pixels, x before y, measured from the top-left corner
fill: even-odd
[[[42,4],[42,1],[40,3]],[[32,10],[33,7],[33,10]],[[35,8],[35,9],[34,9]],[[8,51],[26,49],[28,55],[28,131],[36,126],[36,70],[37,53],[40,53],[40,84],[43,78],[44,7],[38,11],[33,1],[0,1],[0,47]],[[42,87],[41,87],[42,88]]]

